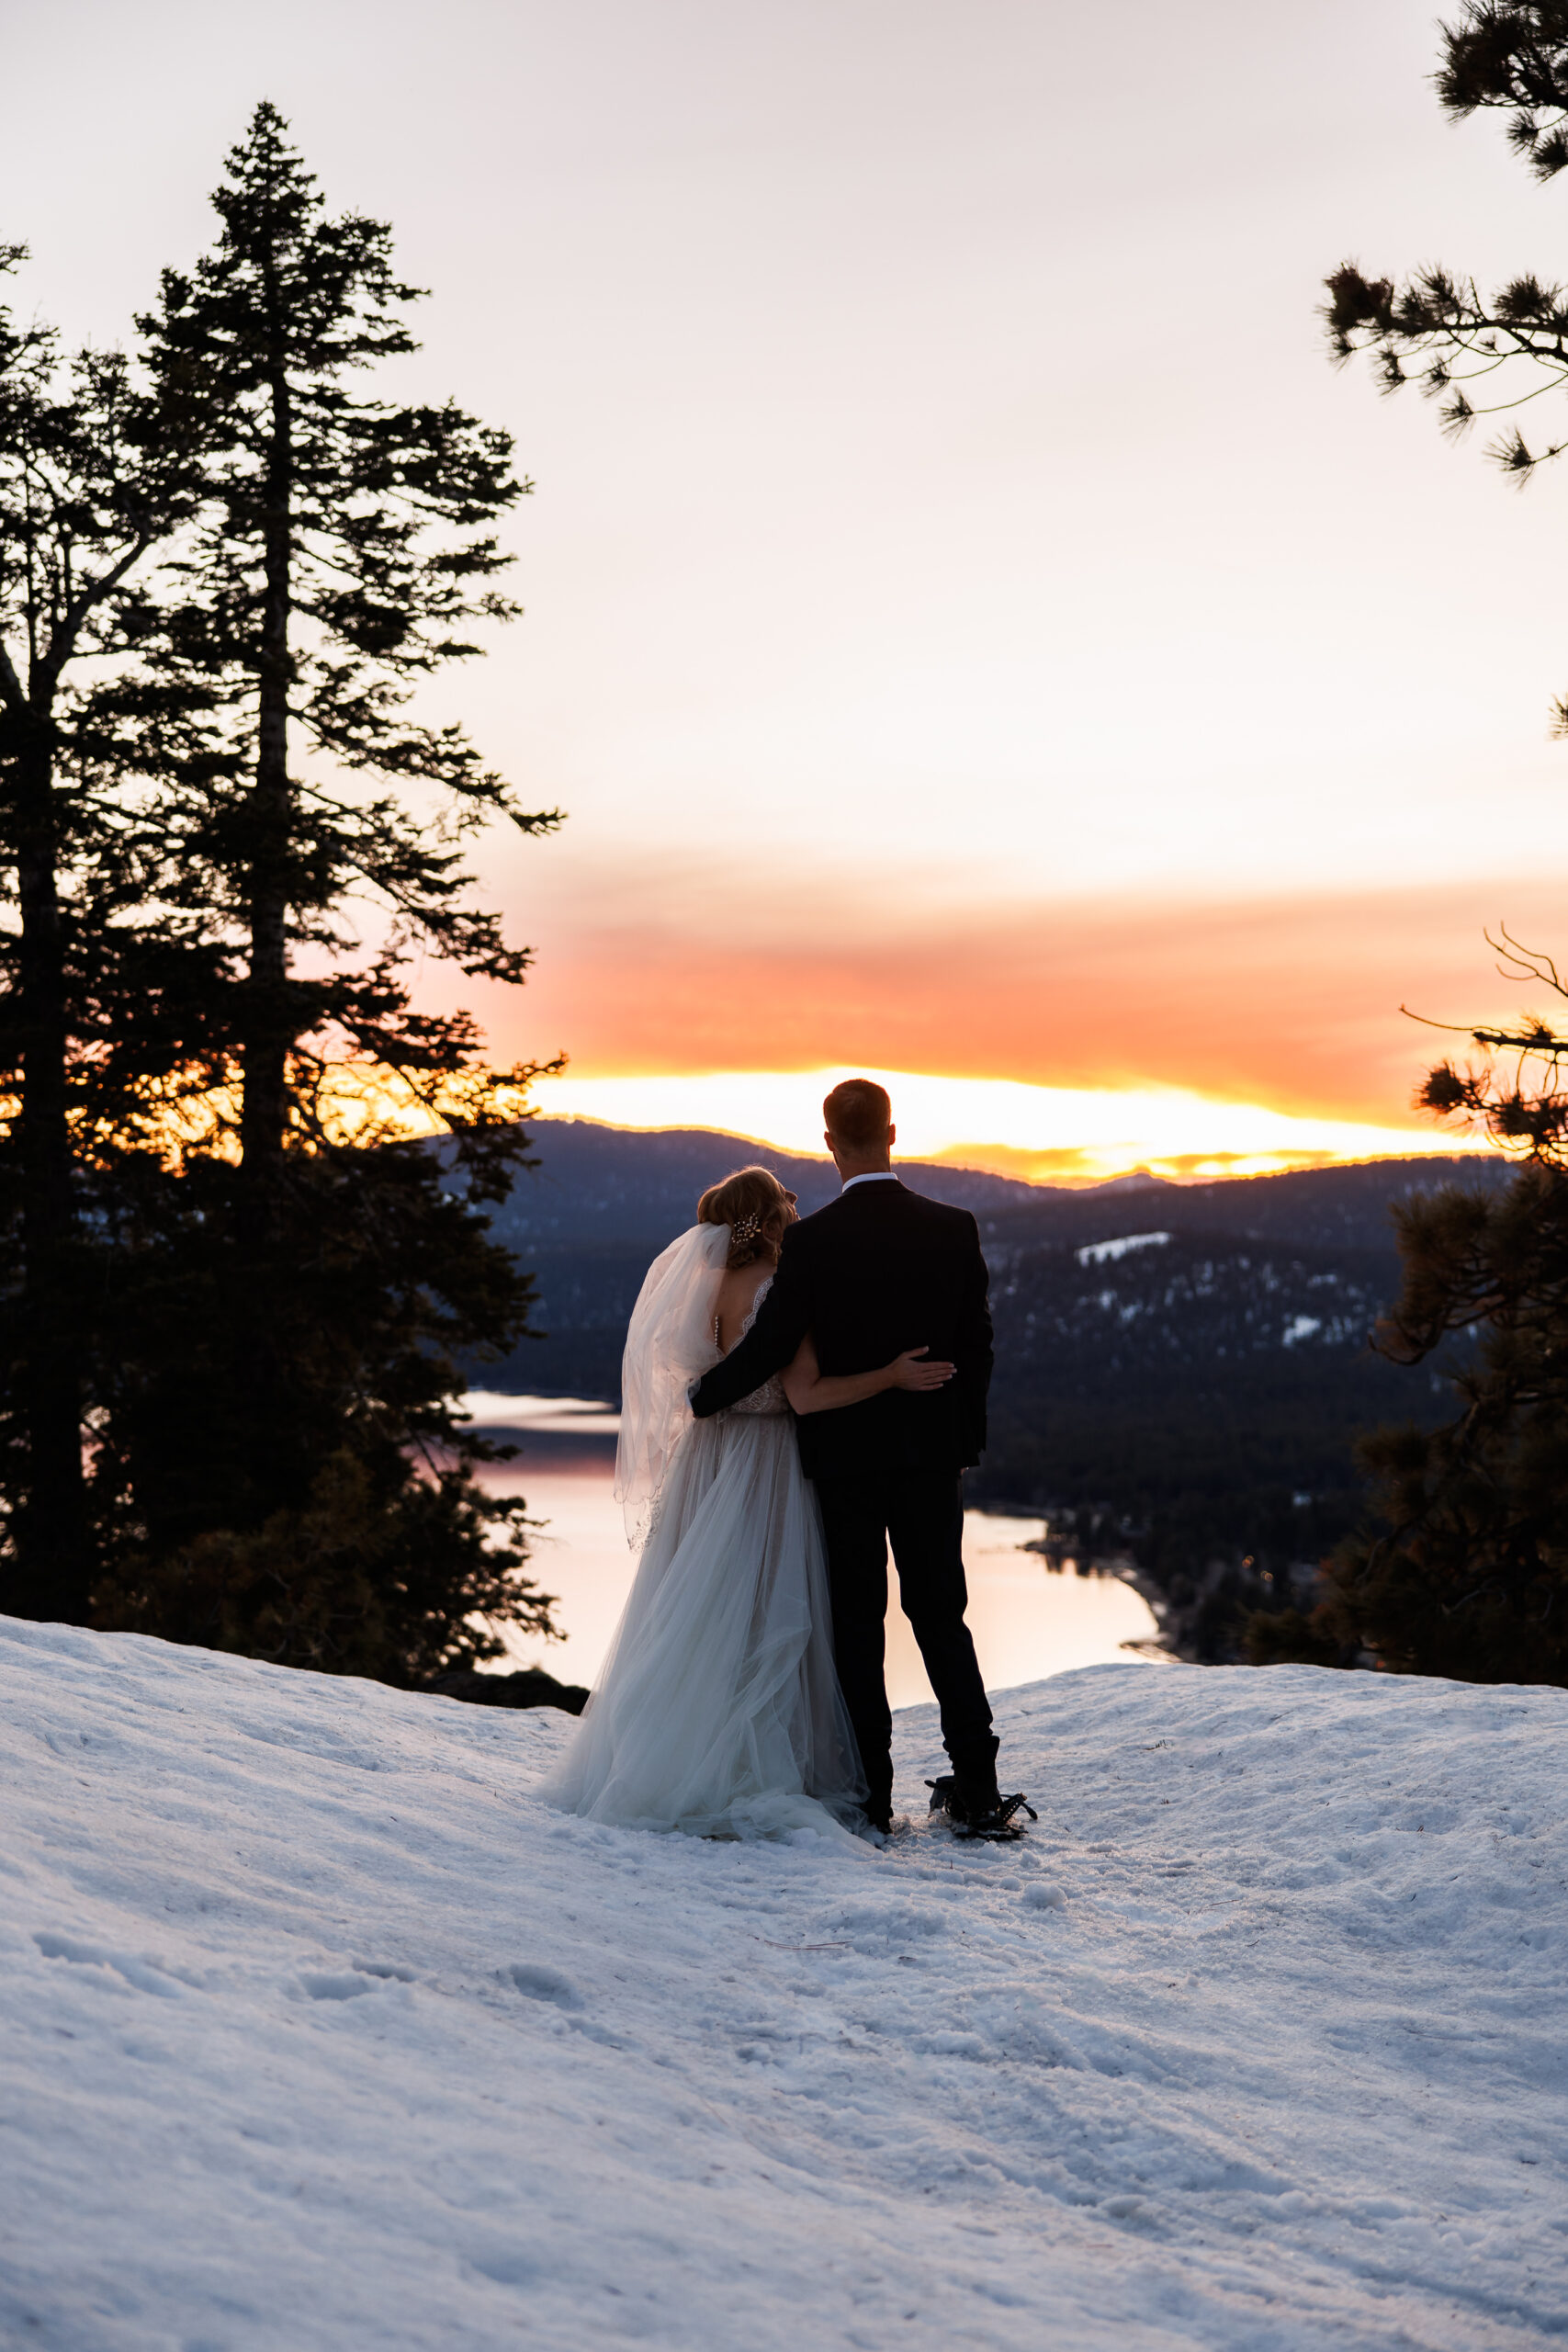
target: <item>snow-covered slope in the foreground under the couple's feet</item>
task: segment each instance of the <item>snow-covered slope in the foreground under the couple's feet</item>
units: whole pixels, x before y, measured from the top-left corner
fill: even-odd
[[[585,1828],[567,1722],[0,1621],[0,2338],[1568,2331],[1568,1693],[1098,1668],[1039,1830]],[[938,1762],[900,1722],[903,1802]]]

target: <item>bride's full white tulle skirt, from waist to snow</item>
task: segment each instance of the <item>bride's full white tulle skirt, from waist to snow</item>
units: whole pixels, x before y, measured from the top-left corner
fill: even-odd
[[[538,1792],[703,1837],[860,1825],[823,1524],[788,1414],[686,1430],[604,1670]]]

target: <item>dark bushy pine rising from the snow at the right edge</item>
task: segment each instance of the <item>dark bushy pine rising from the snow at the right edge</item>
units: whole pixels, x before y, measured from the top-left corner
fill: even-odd
[[[1505,969],[1568,1000],[1505,931]],[[1394,1211],[1403,1291],[1378,1329],[1399,1364],[1446,1367],[1458,1414],[1361,1442],[1380,1531],[1326,1562],[1312,1616],[1255,1616],[1255,1663],[1380,1663],[1465,1682],[1568,1682],[1568,1037],[1537,1014],[1469,1033],[1418,1103],[1523,1164],[1502,1192],[1443,1188]]]

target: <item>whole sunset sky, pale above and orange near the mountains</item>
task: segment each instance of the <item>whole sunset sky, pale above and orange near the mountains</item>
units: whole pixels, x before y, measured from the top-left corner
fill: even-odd
[[[5,14],[28,303],[120,336],[266,94],[433,287],[393,381],[517,435],[527,619],[430,710],[571,818],[480,858],[541,1108],[802,1145],[872,1068],[1030,1174],[1436,1141],[1401,1000],[1568,946],[1568,473],[1314,306],[1554,278],[1568,186],[1443,122],[1432,0]]]

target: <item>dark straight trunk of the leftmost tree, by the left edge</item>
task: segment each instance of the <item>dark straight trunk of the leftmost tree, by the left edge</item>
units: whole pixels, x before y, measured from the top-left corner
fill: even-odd
[[[16,1515],[19,1616],[87,1623],[92,1548],[82,1477],[82,1334],[73,1296],[66,941],[49,722],[28,713],[19,760],[21,901],[21,1416],[28,1501]]]

